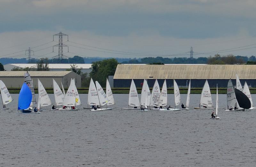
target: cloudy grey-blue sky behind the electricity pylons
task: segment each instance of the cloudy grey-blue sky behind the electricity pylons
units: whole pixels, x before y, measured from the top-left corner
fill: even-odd
[[[0,0],[0,57],[256,56],[256,1]],[[53,52],[52,52],[53,51]]]

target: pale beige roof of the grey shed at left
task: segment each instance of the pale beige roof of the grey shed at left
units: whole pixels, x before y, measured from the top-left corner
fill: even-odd
[[[0,71],[0,77],[24,77],[25,72],[26,71]],[[70,72],[72,71],[29,71],[28,73],[31,77],[63,77]]]

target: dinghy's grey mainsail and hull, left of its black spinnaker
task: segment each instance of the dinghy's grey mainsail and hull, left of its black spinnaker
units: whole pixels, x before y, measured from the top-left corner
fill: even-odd
[[[227,109],[224,110],[224,111],[244,110],[243,108],[238,108],[237,104],[238,104],[238,102],[236,100],[235,88],[232,84],[231,79],[229,79],[228,80],[228,85],[227,85]]]

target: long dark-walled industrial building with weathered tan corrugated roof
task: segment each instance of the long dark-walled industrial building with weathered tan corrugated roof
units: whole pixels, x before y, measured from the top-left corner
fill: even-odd
[[[117,65],[114,75],[114,87],[130,87],[134,80],[136,87],[142,87],[144,79],[148,79],[148,86],[153,87],[158,80],[162,87],[166,79],[167,87],[173,87],[173,79],[179,87],[203,87],[207,79],[210,87],[227,87],[231,78],[236,85],[236,73],[240,82],[246,81],[249,87],[256,87],[256,65]]]

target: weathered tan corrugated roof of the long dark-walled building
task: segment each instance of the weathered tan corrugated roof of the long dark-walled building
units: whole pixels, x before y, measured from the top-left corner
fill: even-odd
[[[256,79],[256,65],[117,65],[114,79]]]

